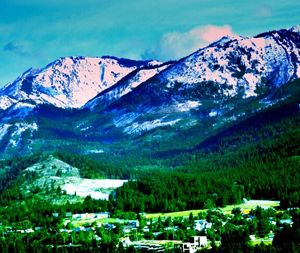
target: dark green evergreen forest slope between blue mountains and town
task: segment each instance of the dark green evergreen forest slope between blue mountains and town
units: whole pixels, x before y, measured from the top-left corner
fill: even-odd
[[[295,103],[262,112],[223,135],[212,136],[193,151],[157,151],[147,160],[161,165],[156,169],[144,166],[130,170],[126,163],[130,156],[120,167],[121,159],[106,165],[79,155],[56,155],[80,168],[86,177],[102,173],[106,177],[133,179],[112,196],[116,210],[157,212],[222,207],[243,198],[276,199],[282,207],[299,206],[299,124]],[[134,154],[131,159],[135,158]]]

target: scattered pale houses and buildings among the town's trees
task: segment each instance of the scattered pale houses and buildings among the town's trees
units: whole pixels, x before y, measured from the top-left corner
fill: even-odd
[[[53,217],[59,217],[58,213],[53,213]],[[243,213],[242,216],[246,220],[251,220],[255,218],[253,215],[245,214]],[[116,223],[121,223],[122,224],[122,231],[123,231],[123,237],[120,239],[120,242],[123,244],[123,247],[134,247],[138,250],[141,251],[147,251],[147,252],[164,252],[165,251],[165,246],[169,243],[172,245],[172,247],[178,248],[181,250],[183,253],[195,253],[200,249],[207,248],[210,245],[210,242],[207,238],[207,236],[194,236],[192,237],[191,241],[189,242],[182,242],[182,241],[175,241],[175,240],[159,240],[158,238],[159,235],[161,235],[164,231],[177,231],[179,229],[178,226],[170,226],[170,227],[164,227],[160,229],[160,231],[153,232],[151,230],[152,227],[152,221],[147,220],[142,227],[140,226],[139,220],[122,220],[122,219],[114,219],[114,223],[110,223],[109,220],[104,222],[105,219],[110,218],[110,213],[109,212],[99,212],[99,213],[81,213],[81,214],[72,214],[70,212],[67,212],[65,215],[65,228],[61,228],[59,231],[61,233],[72,233],[72,232],[93,232],[94,233],[94,238],[97,241],[101,241],[101,238],[97,235],[96,233],[96,227],[104,227],[107,230],[112,230],[116,228]],[[98,221],[101,222],[98,222]],[[227,216],[227,221],[230,220],[230,216]],[[67,226],[69,223],[73,222],[78,222],[79,224],[82,221],[86,221],[90,225],[94,223],[94,221],[97,221],[95,224],[96,226]],[[102,222],[103,221],[103,222]],[[225,225],[226,220],[222,221],[222,225]],[[275,218],[269,217],[269,222],[270,224],[276,225],[277,227],[283,227],[283,226],[292,226],[293,221],[291,218],[286,218],[286,219],[281,219],[275,221]],[[187,227],[186,229],[193,229],[196,232],[201,232],[197,234],[207,234],[207,230],[213,228],[213,223],[208,222],[205,219],[199,219],[199,220],[194,220],[194,225]],[[155,223],[154,223],[155,224]],[[0,224],[2,226],[2,224]],[[35,227],[34,229],[32,228],[27,228],[27,229],[14,229],[13,227],[5,227],[3,236],[7,233],[34,233],[39,230],[42,230],[42,227]],[[153,240],[144,240],[144,235],[146,233],[151,232],[153,234]],[[140,236],[133,236],[139,234]],[[142,235],[142,236],[141,236]],[[174,236],[174,235],[173,235]],[[273,240],[274,234],[271,232],[269,233],[269,240]],[[142,240],[141,240],[142,239]],[[256,240],[254,235],[250,236],[251,240]]]

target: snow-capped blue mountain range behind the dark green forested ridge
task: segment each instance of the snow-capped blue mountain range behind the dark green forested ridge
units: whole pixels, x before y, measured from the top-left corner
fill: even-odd
[[[223,37],[164,63],[60,58],[0,90],[1,157],[195,148],[291,98],[298,105],[298,78],[299,27]]]

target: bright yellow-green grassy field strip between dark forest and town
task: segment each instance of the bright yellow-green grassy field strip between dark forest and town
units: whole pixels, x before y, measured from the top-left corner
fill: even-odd
[[[226,207],[221,208],[221,210],[229,214],[231,213],[231,210],[233,208],[239,207],[242,209],[244,213],[249,213],[251,209],[256,208],[257,206],[261,206],[263,208],[269,208],[269,207],[278,207],[279,201],[273,201],[273,200],[250,200],[247,201],[247,203],[239,204],[239,205],[229,205]],[[158,217],[188,217],[190,213],[192,213],[194,216],[198,215],[200,212],[206,212],[207,209],[198,209],[198,210],[188,210],[188,211],[181,211],[181,212],[172,212],[172,213],[148,213],[146,214],[147,219],[155,219]]]

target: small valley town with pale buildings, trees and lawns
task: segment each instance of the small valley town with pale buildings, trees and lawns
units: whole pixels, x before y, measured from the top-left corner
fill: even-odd
[[[255,204],[258,205],[249,210]],[[118,252],[195,253],[226,243],[224,235],[229,231],[240,231],[235,235],[235,242],[271,245],[278,231],[292,228],[293,215],[299,217],[298,208],[283,211],[277,207],[278,201],[249,201],[248,205],[239,205],[231,211],[228,207],[199,213],[196,210],[165,214],[119,213],[120,218],[109,212],[52,213],[54,219],[61,221],[56,228],[30,228],[26,224],[23,229],[2,224],[0,228],[2,239],[11,234],[52,234],[55,245],[49,244],[49,248],[70,249],[83,244],[103,248],[104,244],[110,244]]]

